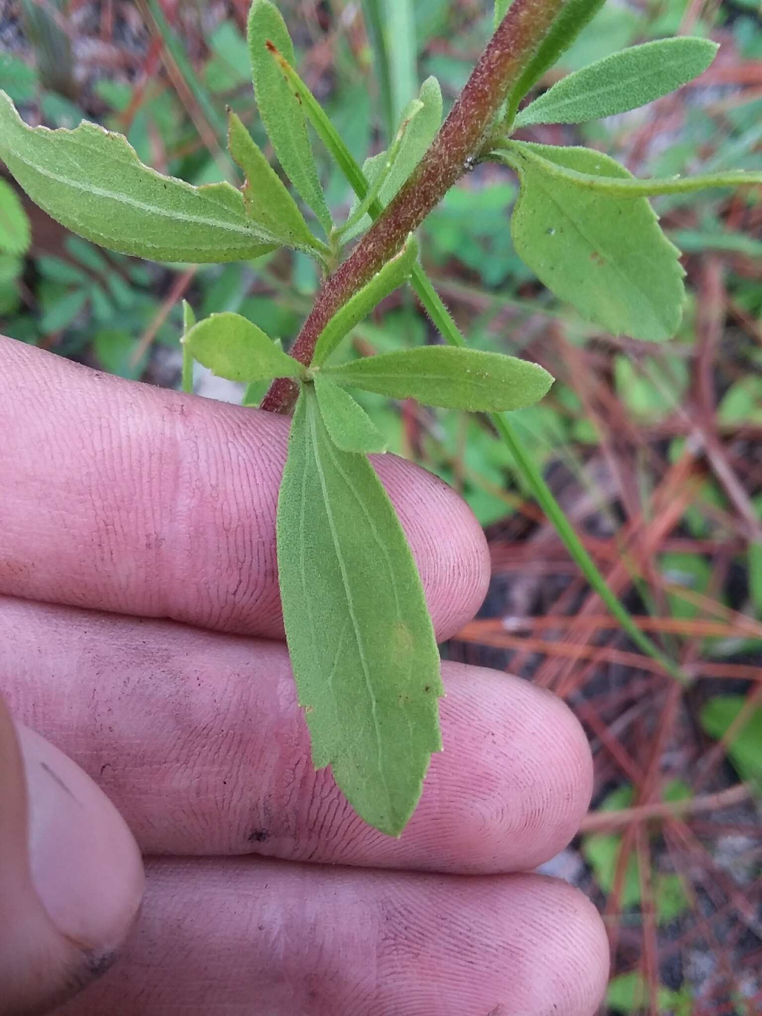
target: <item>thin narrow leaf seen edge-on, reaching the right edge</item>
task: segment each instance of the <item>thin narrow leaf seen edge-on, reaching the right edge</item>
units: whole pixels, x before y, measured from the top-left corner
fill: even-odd
[[[558,145],[534,144],[530,141],[506,141],[503,149],[494,152],[496,157],[514,157],[533,163],[537,169],[559,180],[588,190],[612,194],[615,197],[656,197],[659,194],[689,194],[712,187],[749,187],[762,184],[762,172],[725,170],[719,173],[699,173],[695,177],[653,177],[638,180],[636,177],[600,177],[579,173],[557,161]],[[576,149],[575,149],[576,150]],[[501,154],[502,152],[502,154]]]

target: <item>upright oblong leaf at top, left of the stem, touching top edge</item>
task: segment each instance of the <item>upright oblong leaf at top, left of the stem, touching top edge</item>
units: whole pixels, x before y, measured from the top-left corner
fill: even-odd
[[[249,53],[259,115],[289,179],[329,233],[332,221],[318,180],[302,104],[283,78],[277,57],[296,65],[285,21],[269,0],[254,0],[249,11]],[[273,53],[273,49],[277,51]]]

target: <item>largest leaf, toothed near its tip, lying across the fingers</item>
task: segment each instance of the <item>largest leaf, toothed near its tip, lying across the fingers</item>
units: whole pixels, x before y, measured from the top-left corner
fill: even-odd
[[[396,836],[442,747],[437,646],[391,502],[368,459],[332,443],[310,385],[292,424],[277,560],[313,763]]]

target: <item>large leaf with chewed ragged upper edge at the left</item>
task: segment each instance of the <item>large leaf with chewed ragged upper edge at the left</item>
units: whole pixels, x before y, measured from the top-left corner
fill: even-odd
[[[102,247],[153,261],[219,262],[275,246],[230,184],[190,184],[138,160],[121,134],[96,124],[29,127],[0,91],[0,157],[33,201]]]

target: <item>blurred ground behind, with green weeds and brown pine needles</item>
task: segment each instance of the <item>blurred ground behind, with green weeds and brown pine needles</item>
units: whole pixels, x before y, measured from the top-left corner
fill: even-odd
[[[355,156],[383,147],[420,80],[446,101],[492,25],[486,0],[281,0],[300,70]],[[192,183],[236,180],[230,105],[255,117],[242,35],[248,0],[0,3],[0,87],[30,122],[81,117]],[[599,147],[639,176],[762,168],[759,0],[609,0],[543,82],[630,43],[688,33],[721,44],[701,78],[644,111],[525,136]],[[380,60],[369,40],[380,38]],[[523,135],[520,135],[523,136]],[[2,167],[0,166],[0,170]],[[327,157],[335,205],[351,195]],[[615,976],[607,1011],[762,1011],[762,194],[654,201],[686,252],[681,331],[614,337],[536,283],[508,230],[516,181],[484,166],[427,220],[422,256],[470,343],[525,355],[558,379],[515,414],[525,444],[610,583],[691,678],[641,655],[586,586],[487,423],[364,396],[391,450],[459,490],[487,529],[493,584],[454,658],[509,669],[575,709],[596,763],[593,811],[547,867],[600,905]],[[288,346],[315,268],[156,267],[66,233],[0,174],[0,327],[90,366],[177,386],[180,300],[234,310]],[[358,327],[364,354],[433,339],[409,292]],[[196,390],[243,391],[197,368]],[[253,401],[260,393],[249,391]]]

